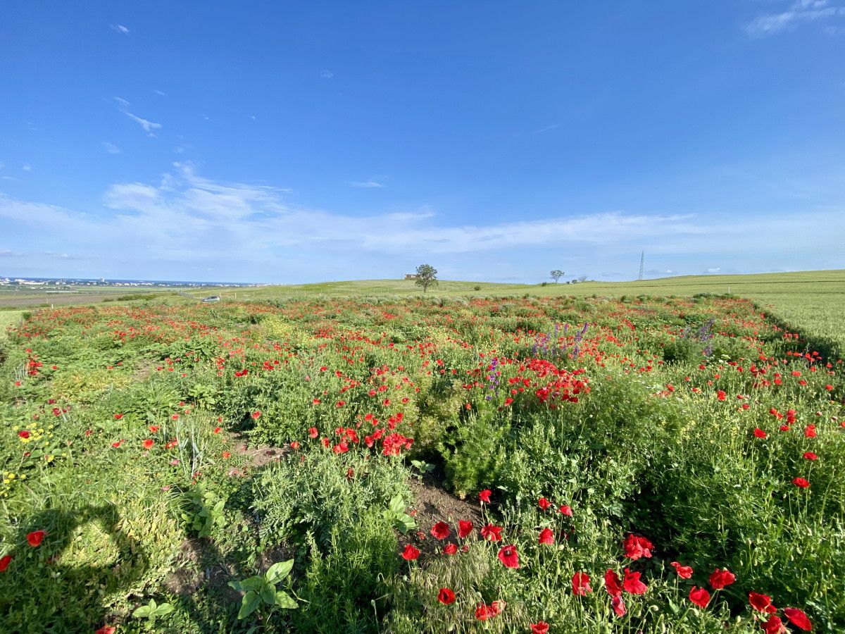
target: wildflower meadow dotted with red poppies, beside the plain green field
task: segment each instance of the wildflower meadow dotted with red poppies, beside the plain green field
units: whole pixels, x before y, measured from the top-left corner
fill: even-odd
[[[0,630],[843,631],[814,344],[719,297],[42,309]]]

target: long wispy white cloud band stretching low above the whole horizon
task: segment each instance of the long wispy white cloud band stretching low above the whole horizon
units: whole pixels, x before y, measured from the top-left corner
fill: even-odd
[[[39,243],[52,260],[63,260],[62,254],[90,255],[85,265],[95,270],[119,244],[114,262],[131,263],[121,265],[124,276],[160,271],[159,278],[165,279],[178,278],[184,272],[177,271],[192,266],[213,267],[225,271],[226,279],[244,281],[384,276],[391,266],[404,269],[420,261],[455,271],[456,278],[530,279],[539,275],[538,268],[548,271],[547,260],[573,276],[591,270],[606,271],[608,277],[635,275],[641,249],[651,266],[666,274],[707,268],[725,272],[736,265],[736,254],[748,253],[750,235],[766,244],[751,256],[765,269],[793,261],[790,254],[801,249],[814,258],[838,253],[836,237],[845,232],[845,210],[833,207],[773,215],[762,225],[727,213],[621,210],[549,218],[514,210],[513,219],[466,224],[429,207],[357,216],[313,209],[292,204],[288,191],[205,178],[190,163],[174,163],[157,183],[113,184],[99,212],[0,194],[0,226],[13,241],[3,246]],[[26,260],[14,264],[19,271],[30,265]],[[488,265],[488,274],[477,274],[479,266]],[[267,271],[272,271],[270,280]]]

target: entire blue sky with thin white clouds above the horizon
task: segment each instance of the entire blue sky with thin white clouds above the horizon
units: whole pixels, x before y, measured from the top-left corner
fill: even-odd
[[[13,3],[0,275],[845,268],[843,59],[845,0]]]

